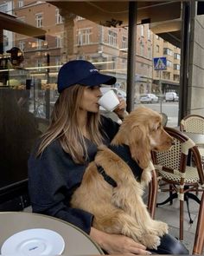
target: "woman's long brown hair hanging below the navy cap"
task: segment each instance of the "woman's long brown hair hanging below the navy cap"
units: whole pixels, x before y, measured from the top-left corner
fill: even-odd
[[[61,147],[72,156],[74,162],[85,163],[87,160],[86,141],[78,127],[78,113],[84,89],[84,86],[76,84],[61,92],[54,104],[51,124],[47,132],[41,136],[37,156],[42,154],[55,139],[59,139]],[[99,146],[102,143],[99,113],[88,113],[87,128],[90,140]]]

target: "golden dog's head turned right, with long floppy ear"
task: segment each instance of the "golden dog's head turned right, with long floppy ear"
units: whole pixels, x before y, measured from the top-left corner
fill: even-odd
[[[125,117],[112,142],[129,145],[131,157],[145,168],[150,163],[151,150],[163,151],[173,145],[172,137],[163,129],[162,119],[162,115],[150,108],[136,108]]]

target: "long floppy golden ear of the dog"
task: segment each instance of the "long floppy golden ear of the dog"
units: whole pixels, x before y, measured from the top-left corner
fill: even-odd
[[[131,128],[131,135],[129,136],[131,157],[137,161],[141,168],[148,167],[150,163],[150,140],[147,133],[148,128],[140,124]]]

